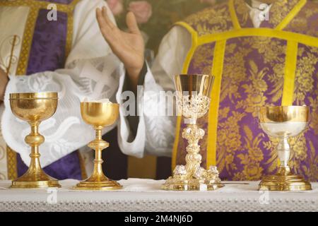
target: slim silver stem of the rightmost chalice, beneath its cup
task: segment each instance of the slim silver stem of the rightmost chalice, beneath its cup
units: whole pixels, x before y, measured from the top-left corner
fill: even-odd
[[[288,162],[290,160],[290,145],[287,137],[284,137],[281,141],[279,141],[277,151],[278,159],[280,161],[278,174],[287,175],[290,173],[290,168],[288,166]]]

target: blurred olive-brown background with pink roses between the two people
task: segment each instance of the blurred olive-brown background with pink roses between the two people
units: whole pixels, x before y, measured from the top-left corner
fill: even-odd
[[[119,28],[126,30],[126,13],[132,11],[146,41],[146,57],[151,60],[158,52],[163,36],[171,26],[202,8],[221,0],[106,0]]]

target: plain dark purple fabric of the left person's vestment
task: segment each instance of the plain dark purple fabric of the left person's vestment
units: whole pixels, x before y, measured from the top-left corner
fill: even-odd
[[[70,1],[51,1],[69,3]],[[40,9],[33,42],[30,49],[27,74],[41,71],[54,71],[64,67],[66,60],[67,14],[57,12],[57,21],[47,20],[47,10]],[[43,150],[45,151],[45,150]],[[18,176],[28,167],[17,155]],[[57,179],[82,179],[78,151],[75,151],[44,168],[44,171]]]

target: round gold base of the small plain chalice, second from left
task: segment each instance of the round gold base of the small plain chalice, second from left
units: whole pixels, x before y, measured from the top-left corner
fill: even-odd
[[[100,181],[92,181],[92,179],[86,179],[83,182],[79,182],[76,186],[73,186],[74,190],[95,190],[95,191],[112,191],[122,189],[122,185],[114,182],[107,177]]]

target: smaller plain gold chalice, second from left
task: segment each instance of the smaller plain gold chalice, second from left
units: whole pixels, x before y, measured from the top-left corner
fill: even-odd
[[[108,179],[102,172],[102,150],[109,147],[109,143],[102,140],[102,129],[111,126],[119,115],[119,105],[108,102],[81,102],[81,115],[86,124],[93,126],[96,133],[94,141],[88,147],[95,150],[93,174],[83,182],[73,186],[76,190],[114,190],[121,189],[117,182]]]

